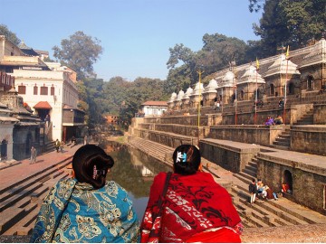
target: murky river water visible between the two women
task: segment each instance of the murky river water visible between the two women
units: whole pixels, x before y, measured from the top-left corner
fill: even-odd
[[[114,159],[114,166],[107,179],[119,183],[129,192],[134,209],[141,221],[149,200],[149,189],[154,176],[162,171],[172,171],[171,167],[127,145],[105,142],[100,146]]]

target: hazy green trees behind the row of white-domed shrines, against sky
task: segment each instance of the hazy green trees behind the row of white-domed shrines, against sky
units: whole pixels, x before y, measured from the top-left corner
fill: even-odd
[[[245,63],[248,45],[244,41],[223,34],[205,34],[204,46],[199,52],[192,52],[183,44],[170,48],[167,62],[168,79],[164,84],[164,92],[171,94],[180,89],[186,90],[198,81],[198,70],[204,70],[206,76],[224,69],[231,61]],[[178,61],[182,64],[177,67]]]

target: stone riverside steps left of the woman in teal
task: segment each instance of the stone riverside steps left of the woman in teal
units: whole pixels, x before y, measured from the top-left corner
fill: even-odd
[[[67,158],[0,190],[0,235],[28,235],[34,228],[40,204],[58,180],[68,177]]]

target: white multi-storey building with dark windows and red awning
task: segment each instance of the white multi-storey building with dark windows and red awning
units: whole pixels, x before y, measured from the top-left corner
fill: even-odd
[[[47,127],[49,140],[84,134],[84,112],[77,108],[76,72],[57,62],[44,62],[25,44],[22,49],[0,36],[0,71],[14,77],[14,89]],[[47,122],[47,123],[46,123]]]

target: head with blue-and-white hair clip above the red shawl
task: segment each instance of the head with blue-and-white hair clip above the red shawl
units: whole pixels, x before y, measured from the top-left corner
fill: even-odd
[[[195,145],[179,145],[173,153],[173,166],[177,174],[196,174],[200,165],[200,152]]]

